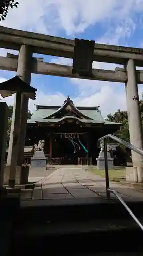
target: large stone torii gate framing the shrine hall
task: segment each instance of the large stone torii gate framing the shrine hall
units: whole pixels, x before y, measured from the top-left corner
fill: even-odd
[[[0,47],[19,51],[19,56],[7,54],[0,57],[0,69],[16,71],[30,84],[31,73],[125,83],[130,142],[143,150],[142,127],[139,110],[138,83],[143,83],[143,49],[95,44],[88,40],[70,40],[0,26]],[[73,59],[73,66],[45,63],[43,58],[33,58],[32,53]],[[124,65],[113,70],[92,69],[92,62]],[[17,165],[22,165],[26,133],[28,98],[23,96],[21,129]],[[15,112],[13,111],[14,122]],[[7,164],[11,159],[13,136],[10,136]],[[132,152],[133,181],[143,182],[143,157]]]

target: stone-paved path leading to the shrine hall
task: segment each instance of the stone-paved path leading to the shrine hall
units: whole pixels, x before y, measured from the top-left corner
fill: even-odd
[[[43,175],[44,173],[46,176]],[[63,168],[59,166],[59,169],[55,171],[50,170],[48,175],[47,170],[43,170],[41,177],[40,175],[35,177],[35,182],[33,200],[106,199],[105,178],[85,170],[84,167]],[[115,182],[110,182],[110,188],[118,191],[119,196],[126,201],[134,200],[134,198],[138,201],[143,200],[141,191]],[[111,198],[115,196],[111,194]]]

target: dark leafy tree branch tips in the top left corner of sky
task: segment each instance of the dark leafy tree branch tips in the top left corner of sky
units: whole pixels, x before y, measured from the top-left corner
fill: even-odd
[[[18,7],[18,2],[15,0],[0,0],[0,21],[5,20],[9,8]]]

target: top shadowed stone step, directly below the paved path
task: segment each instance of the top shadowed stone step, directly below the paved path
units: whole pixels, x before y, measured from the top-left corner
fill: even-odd
[[[142,201],[128,201],[133,213],[143,215]],[[130,218],[127,210],[116,199],[63,199],[63,200],[30,200],[21,201],[18,220],[22,222],[87,220],[91,218]]]

